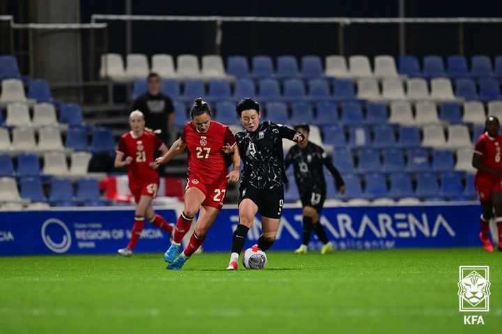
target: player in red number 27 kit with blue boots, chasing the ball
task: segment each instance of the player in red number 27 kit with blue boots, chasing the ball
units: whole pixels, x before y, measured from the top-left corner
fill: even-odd
[[[224,152],[232,151],[236,141],[229,127],[211,120],[211,110],[201,98],[195,100],[190,109],[192,122],[187,123],[180,138],[174,142],[169,152],[158,158],[157,164],[165,164],[188,148],[188,184],[185,189],[185,209],[174,229],[171,246],[164,254],[169,262],[167,269],[178,270],[201,246],[213,221],[220,212],[227,191],[228,182],[237,182],[241,157],[234,153],[233,170],[228,172]],[[181,240],[190,230],[195,214],[199,218],[188,246],[176,257]],[[176,259],[174,258],[176,257]]]

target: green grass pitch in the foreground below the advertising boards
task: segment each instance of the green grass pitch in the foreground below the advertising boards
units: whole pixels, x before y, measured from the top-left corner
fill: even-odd
[[[0,333],[499,333],[502,253],[479,248],[0,257]],[[459,265],[490,266],[485,325],[464,325]]]

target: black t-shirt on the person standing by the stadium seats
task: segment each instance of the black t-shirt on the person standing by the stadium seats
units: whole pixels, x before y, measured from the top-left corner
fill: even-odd
[[[144,93],[132,104],[132,110],[141,111],[145,116],[145,126],[153,130],[162,130],[160,138],[164,142],[168,141],[167,119],[170,113],[174,113],[174,106],[167,95]]]

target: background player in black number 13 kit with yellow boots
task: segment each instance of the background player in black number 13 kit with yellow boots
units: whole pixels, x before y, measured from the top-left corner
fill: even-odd
[[[296,186],[298,186],[303,207],[302,244],[295,250],[295,253],[307,253],[307,244],[313,229],[324,244],[321,254],[326,254],[333,251],[333,244],[328,241],[326,230],[319,223],[319,213],[326,200],[323,165],[335,178],[335,186],[339,193],[345,193],[345,184],[331,159],[328,158],[328,154],[320,146],[308,141],[310,127],[307,124],[300,124],[294,128],[305,136],[305,141],[294,145],[286,156],[286,169],[293,164]]]

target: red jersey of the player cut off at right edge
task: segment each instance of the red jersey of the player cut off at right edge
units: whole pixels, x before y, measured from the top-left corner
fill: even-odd
[[[481,163],[489,168],[502,170],[502,134],[498,134],[495,138],[490,138],[485,132],[479,136],[474,148],[474,154],[481,156]],[[497,181],[500,177],[478,170],[476,172],[476,180]]]

